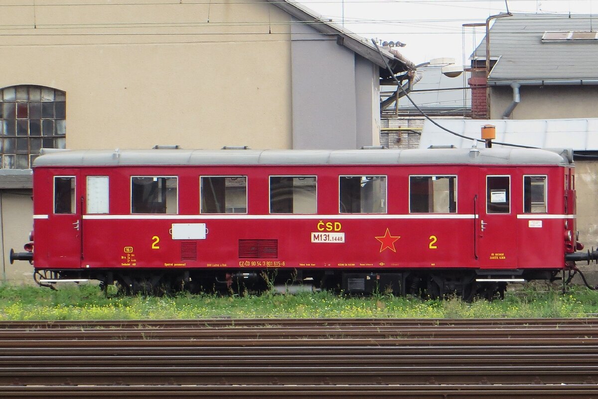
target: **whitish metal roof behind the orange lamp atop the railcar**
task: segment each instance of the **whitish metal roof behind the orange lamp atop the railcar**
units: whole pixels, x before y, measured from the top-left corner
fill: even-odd
[[[598,150],[598,118],[588,119],[442,119],[435,120],[447,129],[471,138],[481,138],[481,127],[496,126],[496,141],[538,148],[573,148],[576,151]],[[430,145],[454,145],[469,148],[474,141],[445,132],[430,121],[422,129],[420,148]],[[483,146],[483,144],[480,144]],[[494,145],[494,147],[502,147]]]

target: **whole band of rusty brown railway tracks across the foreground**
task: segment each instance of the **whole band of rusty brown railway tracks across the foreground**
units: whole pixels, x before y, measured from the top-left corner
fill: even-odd
[[[0,397],[598,398],[598,319],[0,323]]]

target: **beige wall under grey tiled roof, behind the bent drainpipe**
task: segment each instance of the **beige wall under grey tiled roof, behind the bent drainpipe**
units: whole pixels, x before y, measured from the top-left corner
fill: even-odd
[[[501,119],[512,102],[510,86],[490,89],[490,117]],[[521,102],[509,119],[598,117],[598,86],[521,86]]]

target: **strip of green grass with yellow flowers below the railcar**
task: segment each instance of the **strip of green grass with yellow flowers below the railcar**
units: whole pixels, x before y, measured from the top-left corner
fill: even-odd
[[[231,318],[545,318],[598,313],[598,291],[554,286],[508,291],[505,300],[420,300],[388,295],[344,297],[331,293],[174,297],[121,297],[93,285],[48,288],[0,285],[0,320]]]

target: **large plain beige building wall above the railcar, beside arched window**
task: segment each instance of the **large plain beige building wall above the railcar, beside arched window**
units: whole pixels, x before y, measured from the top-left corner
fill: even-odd
[[[0,87],[65,91],[71,149],[291,148],[291,17],[230,2],[3,7]]]

